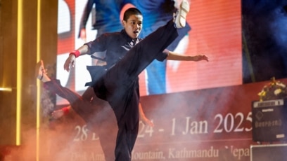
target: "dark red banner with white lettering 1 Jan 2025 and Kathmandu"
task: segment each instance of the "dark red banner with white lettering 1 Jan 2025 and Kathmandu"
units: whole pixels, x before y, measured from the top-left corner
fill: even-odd
[[[251,106],[267,83],[141,97],[155,126],[140,123],[132,160],[250,160]],[[84,124],[71,130],[70,160],[103,160],[96,134]]]

